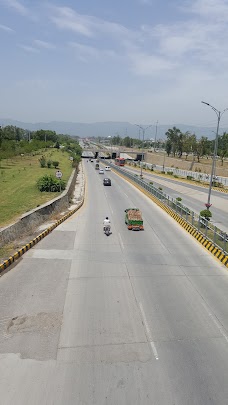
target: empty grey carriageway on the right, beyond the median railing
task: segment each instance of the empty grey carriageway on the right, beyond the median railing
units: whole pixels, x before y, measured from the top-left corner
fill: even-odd
[[[125,167],[133,173],[140,174],[139,170]],[[166,179],[154,173],[143,172],[144,180],[153,181],[155,187],[162,186],[163,191],[170,197],[176,199],[182,198],[182,204],[186,205],[190,210],[198,213],[205,209],[205,203],[208,198],[208,189],[192,185],[188,183],[180,183],[172,178]],[[223,194],[219,191],[212,190],[210,208],[212,212],[211,222],[228,232],[228,194]]]

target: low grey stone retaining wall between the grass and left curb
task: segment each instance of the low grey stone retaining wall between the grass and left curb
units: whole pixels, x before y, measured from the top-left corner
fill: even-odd
[[[17,222],[8,225],[0,230],[0,247],[18,237],[31,232],[37,226],[45,222],[51,215],[57,214],[69,207],[71,196],[73,195],[78,169],[74,169],[63,193],[38,208],[35,208],[22,215]]]

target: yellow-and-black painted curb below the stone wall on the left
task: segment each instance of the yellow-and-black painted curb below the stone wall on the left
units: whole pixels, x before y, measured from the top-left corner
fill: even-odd
[[[62,222],[66,221],[69,217],[71,217],[75,212],[79,210],[79,208],[82,207],[84,204],[85,200],[85,180],[84,180],[84,174],[83,174],[83,187],[82,187],[82,199],[78,203],[77,207],[75,207],[73,210],[65,214],[61,219],[56,221],[54,224],[49,226],[45,231],[40,233],[38,236],[36,236],[34,239],[32,239],[29,243],[24,245],[21,249],[16,251],[13,256],[10,256],[7,260],[5,260],[3,263],[0,263],[0,274],[6,270],[11,264],[13,264],[17,259],[19,259],[24,253],[26,253],[29,249],[31,249],[34,245],[36,245],[41,239],[45,238],[50,232],[53,231],[58,225],[60,225]]]

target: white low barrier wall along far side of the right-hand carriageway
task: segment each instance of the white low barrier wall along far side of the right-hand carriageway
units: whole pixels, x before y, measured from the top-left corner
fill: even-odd
[[[135,166],[135,162],[129,162],[130,166]],[[161,171],[164,173],[172,173],[173,176],[178,176],[178,177],[185,177],[187,178],[192,178],[195,181],[204,181],[205,183],[210,183],[210,179],[211,179],[211,175],[210,174],[206,174],[206,173],[202,173],[202,172],[193,172],[190,170],[184,170],[184,169],[177,169],[175,167],[167,167],[167,166],[161,166],[161,165],[155,165],[152,163],[146,163],[143,162],[143,169],[149,169],[149,170],[157,170],[157,171]],[[137,164],[138,167],[140,167],[140,162]],[[214,176],[213,181],[217,184],[220,184],[221,186],[228,186],[228,177],[222,177],[222,176]],[[217,187],[218,191],[219,191],[219,187]],[[222,190],[223,192],[228,190]]]

